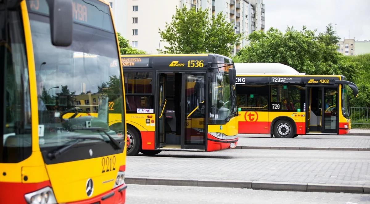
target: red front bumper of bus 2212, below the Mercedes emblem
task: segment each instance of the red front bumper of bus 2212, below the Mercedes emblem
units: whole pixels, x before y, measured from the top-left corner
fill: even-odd
[[[119,186],[108,192],[100,194],[99,196],[95,196],[88,200],[71,202],[70,204],[91,204],[91,203],[123,204],[125,203],[125,200],[126,200],[126,188],[127,188],[127,185],[123,184],[122,186]]]

